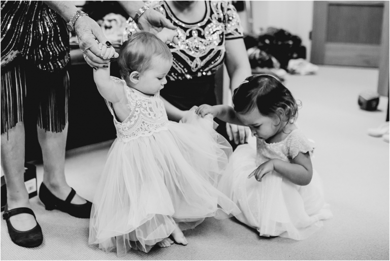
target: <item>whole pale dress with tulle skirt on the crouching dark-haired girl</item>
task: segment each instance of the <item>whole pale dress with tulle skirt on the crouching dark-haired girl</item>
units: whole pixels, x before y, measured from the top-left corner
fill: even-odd
[[[236,218],[260,236],[303,240],[320,229],[322,220],[331,218],[332,212],[324,201],[321,179],[315,170],[306,186],[291,183],[275,171],[264,176],[262,182],[247,178],[269,159],[290,162],[299,152],[312,152],[313,148],[299,129],[278,143],[257,139],[257,153],[250,144],[238,146],[233,153],[233,174],[224,176],[220,183],[220,190],[242,211]]]

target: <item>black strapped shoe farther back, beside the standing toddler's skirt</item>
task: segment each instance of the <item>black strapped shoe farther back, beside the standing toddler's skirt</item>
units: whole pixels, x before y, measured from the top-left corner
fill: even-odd
[[[91,215],[92,203],[86,200],[86,203],[81,205],[72,204],[71,201],[75,195],[76,191],[72,188],[68,198],[63,201],[55,197],[43,182],[39,189],[39,199],[45,205],[46,210],[58,209],[74,217],[89,218]]]

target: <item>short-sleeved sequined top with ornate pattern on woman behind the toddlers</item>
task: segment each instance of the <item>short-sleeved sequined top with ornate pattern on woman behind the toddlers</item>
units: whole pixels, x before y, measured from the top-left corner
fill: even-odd
[[[192,79],[214,74],[223,64],[225,40],[243,37],[236,9],[227,1],[206,1],[206,13],[198,23],[179,20],[165,1],[148,5],[166,16],[177,27],[179,44],[169,44],[173,66],[168,74],[171,81]],[[137,30],[134,22],[127,32]]]

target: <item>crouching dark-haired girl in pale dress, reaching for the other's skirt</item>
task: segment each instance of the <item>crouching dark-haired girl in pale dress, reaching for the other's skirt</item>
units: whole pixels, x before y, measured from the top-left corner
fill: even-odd
[[[234,171],[220,182],[238,205],[236,218],[260,236],[302,240],[332,217],[321,180],[312,168],[313,145],[294,121],[298,106],[290,91],[272,75],[248,77],[229,106],[202,105],[201,116],[249,126],[257,138],[257,153],[240,145],[233,153]],[[253,177],[253,178],[252,178]]]

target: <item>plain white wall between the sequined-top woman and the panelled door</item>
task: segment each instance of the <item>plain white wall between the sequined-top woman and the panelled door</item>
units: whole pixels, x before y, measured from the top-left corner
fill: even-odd
[[[309,32],[313,25],[313,1],[251,1],[253,32],[261,28],[282,28],[302,39],[310,60],[311,41]],[[240,14],[242,23],[245,18]]]

